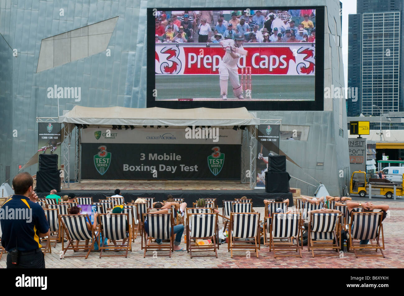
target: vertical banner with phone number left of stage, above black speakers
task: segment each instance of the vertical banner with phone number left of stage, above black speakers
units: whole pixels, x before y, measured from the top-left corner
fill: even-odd
[[[38,153],[59,155],[58,167],[62,142],[61,128],[62,124],[57,122],[38,122]]]

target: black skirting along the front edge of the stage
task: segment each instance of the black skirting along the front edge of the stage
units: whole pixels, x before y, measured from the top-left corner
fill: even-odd
[[[57,194],[60,196],[74,193],[77,197],[93,197],[96,202],[99,199],[104,199],[107,196],[114,195],[114,190],[70,190],[62,189]],[[38,193],[39,197],[45,197],[49,193]],[[256,207],[264,206],[264,199],[289,199],[289,206],[293,206],[292,193],[267,193],[265,189],[249,189],[249,190],[121,190],[121,195],[125,202],[136,200],[138,197],[154,197],[156,202],[161,202],[167,199],[167,195],[171,194],[175,198],[183,198],[188,207],[192,206],[193,202],[200,198],[216,198],[217,205],[220,207],[223,200],[234,200],[246,196],[252,199],[253,205]]]

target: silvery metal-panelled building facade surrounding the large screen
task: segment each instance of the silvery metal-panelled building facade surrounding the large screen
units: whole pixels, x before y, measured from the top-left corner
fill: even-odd
[[[248,8],[249,5],[326,6],[324,87],[344,86],[339,1],[220,2],[223,7]],[[146,8],[184,6],[217,7],[219,4],[211,0],[198,3],[166,0],[0,0],[0,33],[4,37],[0,36],[0,182],[12,179],[18,172],[18,165],[25,164],[36,154],[37,117],[57,117],[74,105],[146,107]],[[43,41],[51,41],[51,37],[55,41],[55,36],[115,17],[118,19],[107,50],[80,58],[80,55],[72,54],[70,43],[70,61],[67,58],[66,63],[64,60],[54,61],[56,67],[45,65],[46,69],[41,68],[44,70],[37,73]],[[100,34],[109,33],[101,31]],[[84,36],[87,35],[76,37]],[[44,40],[46,38],[50,39]],[[72,35],[63,38],[72,38]],[[59,47],[54,47],[53,53],[63,59],[60,51],[67,52],[68,48],[58,42],[54,42]],[[13,56],[13,49],[17,49],[17,57]],[[57,98],[47,96],[47,89],[55,85],[80,87],[80,101],[59,98],[58,107]],[[342,194],[343,185],[349,178],[348,143],[344,132],[345,100],[324,99],[324,111],[260,111],[257,116],[282,119],[282,124],[309,126],[307,141],[281,141],[281,149],[303,168],[288,164],[287,170],[292,176],[311,184],[317,184],[314,180],[321,181],[332,195]],[[74,159],[74,151],[70,159]],[[25,171],[35,174],[37,165]],[[70,172],[74,172],[73,167]],[[307,188],[300,181],[290,185]],[[310,186],[303,193],[313,194],[314,189]]]

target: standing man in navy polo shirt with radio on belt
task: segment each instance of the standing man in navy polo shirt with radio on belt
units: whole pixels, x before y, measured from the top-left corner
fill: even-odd
[[[34,180],[27,173],[14,177],[15,195],[0,208],[1,243],[7,254],[7,268],[45,268],[40,237],[50,235],[45,212],[32,191]]]

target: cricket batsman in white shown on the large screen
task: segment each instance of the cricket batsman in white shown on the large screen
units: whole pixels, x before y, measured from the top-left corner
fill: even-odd
[[[225,50],[225,55],[219,63],[219,78],[220,78],[220,95],[223,100],[227,99],[227,83],[230,78],[230,83],[233,86],[234,95],[238,99],[244,99],[242,94],[242,86],[238,77],[238,60],[242,55],[247,55],[247,50],[244,50],[244,36],[236,34],[233,39],[225,39],[220,42]]]

